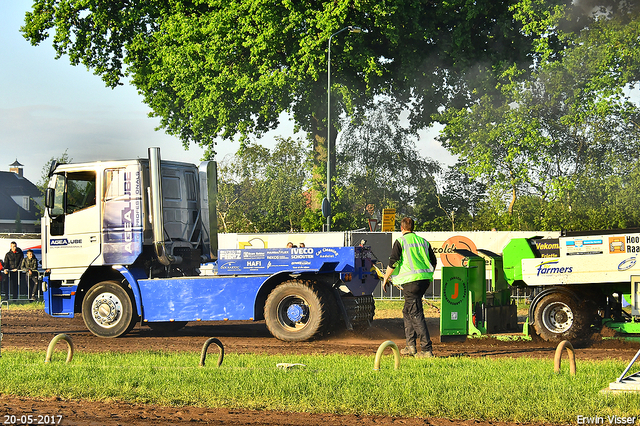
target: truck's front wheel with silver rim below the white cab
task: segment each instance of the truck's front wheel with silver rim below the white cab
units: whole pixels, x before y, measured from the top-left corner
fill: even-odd
[[[103,281],[89,289],[82,301],[82,318],[98,337],[119,337],[136,325],[131,295],[116,281]]]

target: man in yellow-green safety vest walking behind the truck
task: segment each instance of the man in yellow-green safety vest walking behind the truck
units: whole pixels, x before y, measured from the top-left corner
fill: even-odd
[[[386,293],[389,279],[393,285],[402,288],[404,308],[404,334],[407,346],[400,351],[403,355],[416,358],[433,357],[431,337],[427,329],[422,308],[422,296],[431,285],[436,268],[436,255],[427,240],[413,233],[414,222],[405,217],[400,222],[402,236],[393,243],[389,266],[384,274],[382,289]],[[420,352],[416,349],[420,338]]]

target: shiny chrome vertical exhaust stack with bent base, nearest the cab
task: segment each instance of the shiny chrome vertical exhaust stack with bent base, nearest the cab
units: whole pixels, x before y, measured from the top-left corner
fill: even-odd
[[[160,148],[149,148],[149,188],[151,189],[150,210],[153,228],[153,246],[158,260],[165,266],[180,263],[179,256],[167,252],[164,241],[164,215],[162,212],[162,174],[160,172]]]

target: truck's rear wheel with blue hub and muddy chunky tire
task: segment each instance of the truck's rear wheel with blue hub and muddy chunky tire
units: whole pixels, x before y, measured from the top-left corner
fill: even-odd
[[[285,281],[267,297],[264,318],[269,332],[287,342],[302,342],[313,338],[331,326],[330,312],[335,309],[330,294],[312,283]],[[333,308],[332,308],[333,307]]]

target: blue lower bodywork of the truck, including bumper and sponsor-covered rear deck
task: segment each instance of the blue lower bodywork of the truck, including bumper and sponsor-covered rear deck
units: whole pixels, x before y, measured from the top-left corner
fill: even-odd
[[[332,275],[352,295],[372,294],[379,281],[367,253],[363,247],[224,249],[217,262],[202,268],[217,266],[217,274],[197,277],[149,279],[136,268],[113,268],[131,286],[142,322],[254,320],[263,318],[259,301],[266,298],[270,283],[291,274],[312,279]],[[73,318],[78,286],[46,287],[45,311]]]

